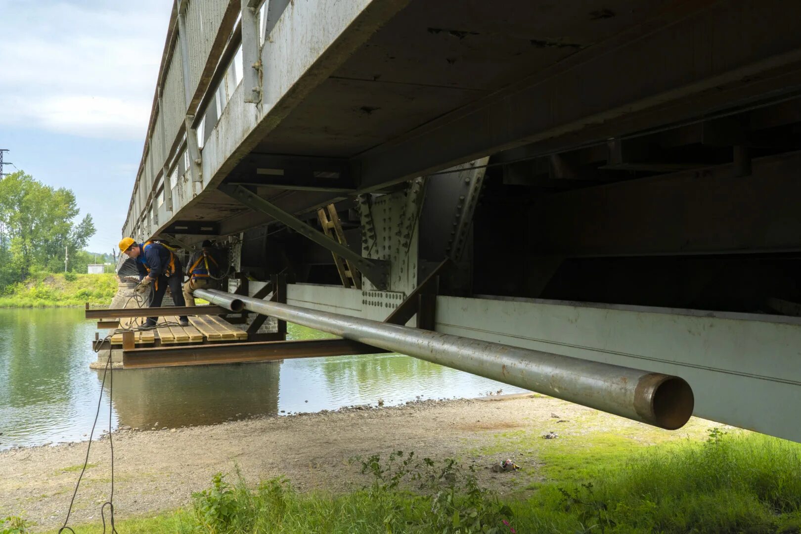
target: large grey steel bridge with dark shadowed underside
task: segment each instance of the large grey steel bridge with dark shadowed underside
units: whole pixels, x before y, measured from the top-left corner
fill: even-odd
[[[122,233],[215,239],[242,294],[284,273],[297,307],[678,375],[695,415],[801,441],[799,15],[176,0]]]

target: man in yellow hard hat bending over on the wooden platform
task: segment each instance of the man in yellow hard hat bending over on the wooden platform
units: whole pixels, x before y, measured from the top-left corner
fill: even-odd
[[[149,287],[153,287],[148,307],[161,307],[167,287],[170,287],[175,306],[186,306],[181,291],[183,280],[181,261],[171,247],[167,247],[159,241],[147,241],[139,244],[133,238],[127,237],[119,242],[119,251],[136,262],[136,268],[139,271],[139,285],[135,291],[144,293]],[[158,317],[148,317],[144,326],[155,327],[158,322]],[[179,324],[182,327],[189,326],[189,319],[186,315],[179,317]]]

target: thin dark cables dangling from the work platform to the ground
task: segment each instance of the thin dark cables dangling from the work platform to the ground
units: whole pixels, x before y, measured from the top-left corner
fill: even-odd
[[[152,298],[152,295],[153,295],[153,291],[150,292],[150,297],[151,298]],[[148,306],[147,307],[150,307],[150,303],[152,302],[151,298],[148,299],[148,302],[147,302]],[[125,301],[125,305],[123,307],[128,307],[128,304],[131,303],[131,300],[135,300],[135,302],[137,304],[139,304],[138,307],[140,307],[140,308],[141,307],[145,307],[145,306],[143,306],[144,299],[142,298],[142,295],[139,295],[139,293],[136,293],[136,292],[133,295],[131,295],[130,297],[128,297],[128,299],[127,299],[127,301]],[[106,360],[106,367],[103,368],[103,380],[100,382],[100,395],[98,396],[98,408],[97,408],[97,411],[95,412],[95,420],[94,420],[94,422],[92,422],[92,430],[89,433],[89,443],[87,444],[87,456],[83,460],[83,468],[81,468],[81,474],[78,475],[78,482],[75,484],[75,489],[72,492],[72,498],[70,499],[70,507],[67,508],[66,518],[64,519],[64,524],[63,524],[62,528],[58,529],[58,534],[62,534],[62,532],[67,532],[67,531],[68,532],[72,532],[72,534],[75,534],[75,531],[71,527],[68,527],[67,524],[70,522],[70,515],[72,514],[72,506],[73,506],[73,504],[75,502],[75,496],[78,495],[78,487],[80,487],[80,485],[81,485],[81,480],[83,479],[83,473],[87,471],[87,465],[89,464],[89,452],[91,451],[91,448],[92,448],[92,437],[95,436],[95,426],[97,425],[98,417],[100,416],[100,404],[101,404],[101,402],[103,400],[103,386],[106,385],[106,375],[108,375],[108,378],[109,378],[109,380],[108,380],[108,442],[109,442],[109,445],[111,446],[111,493],[109,494],[108,500],[106,502],[104,502],[100,506],[100,517],[103,520],[103,534],[106,534],[106,513],[105,513],[105,510],[106,510],[106,507],[108,507],[108,509],[109,509],[109,524],[111,526],[111,534],[119,534],[119,532],[117,532],[117,529],[115,528],[115,524],[114,524],[114,440],[111,439],[111,415],[112,415],[112,408],[113,408],[113,404],[111,403],[111,399],[114,398],[114,366],[111,364],[111,337],[113,335],[116,335],[116,334],[121,334],[121,333],[123,333],[125,331],[143,331],[143,330],[153,330],[155,328],[162,328],[162,327],[177,327],[177,326],[179,326],[179,324],[175,323],[175,321],[163,321],[161,323],[155,323],[153,326],[139,325],[139,319],[141,319],[141,318],[135,318],[132,321],[131,325],[129,325],[128,327],[115,328],[115,330],[112,331],[111,334],[109,334],[105,338],[103,338],[103,341],[101,341],[100,343],[96,343],[95,344],[94,351],[95,352],[99,352],[100,351],[100,347],[103,347],[103,343],[108,342],[108,359]]]

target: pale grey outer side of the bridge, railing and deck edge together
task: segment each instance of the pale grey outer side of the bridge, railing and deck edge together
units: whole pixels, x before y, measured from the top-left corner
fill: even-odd
[[[175,0],[123,234],[213,229],[179,215],[401,5]]]

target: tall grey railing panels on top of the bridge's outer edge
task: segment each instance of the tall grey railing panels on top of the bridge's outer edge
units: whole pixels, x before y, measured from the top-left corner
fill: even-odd
[[[209,122],[205,110],[219,108],[216,84],[223,87],[225,102],[232,92],[225,65],[219,66],[241,40],[241,5],[241,0],[175,0],[123,235],[150,237],[159,216],[173,211],[175,194],[185,200],[199,192],[199,146]],[[210,111],[216,120],[217,109]]]

